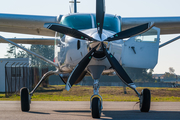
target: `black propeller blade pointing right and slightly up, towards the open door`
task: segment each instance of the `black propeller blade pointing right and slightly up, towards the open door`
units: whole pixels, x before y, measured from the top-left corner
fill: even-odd
[[[114,41],[114,40],[133,37],[133,36],[136,36],[136,35],[139,35],[139,34],[142,34],[142,33],[146,32],[146,31],[148,31],[153,26],[154,26],[153,22],[142,24],[142,25],[139,25],[139,26],[136,26],[136,27],[121,31],[119,33],[116,33],[113,36],[108,37],[104,41]]]

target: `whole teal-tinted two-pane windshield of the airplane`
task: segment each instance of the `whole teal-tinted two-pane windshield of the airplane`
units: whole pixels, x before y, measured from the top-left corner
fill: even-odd
[[[92,18],[91,15],[93,16]],[[77,30],[90,29],[93,28],[93,26],[97,28],[96,14],[72,14],[69,16],[65,16],[61,20],[60,24]],[[110,14],[105,15],[103,29],[117,33],[120,32],[120,27],[120,21],[116,16]]]

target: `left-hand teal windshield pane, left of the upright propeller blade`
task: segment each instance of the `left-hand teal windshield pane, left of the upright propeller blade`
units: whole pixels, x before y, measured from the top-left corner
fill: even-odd
[[[92,28],[92,19],[88,14],[70,15],[62,19],[61,24],[77,30],[90,29]]]

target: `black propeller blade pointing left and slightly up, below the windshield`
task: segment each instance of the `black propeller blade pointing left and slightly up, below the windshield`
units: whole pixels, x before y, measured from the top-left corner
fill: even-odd
[[[98,41],[98,40],[95,40],[94,38],[80,32],[80,31],[78,31],[76,29],[64,26],[62,24],[45,23],[44,27],[48,28],[50,30],[53,30],[53,31],[57,31],[57,32],[62,33],[62,34],[69,35],[69,36],[74,37],[74,38],[81,39],[81,40]]]

